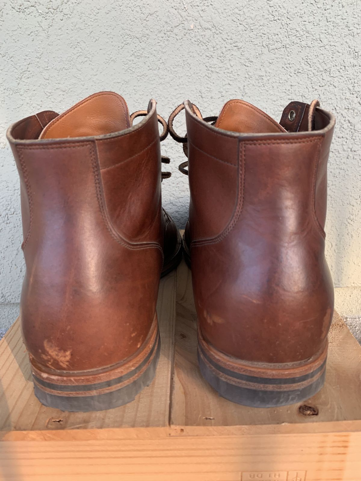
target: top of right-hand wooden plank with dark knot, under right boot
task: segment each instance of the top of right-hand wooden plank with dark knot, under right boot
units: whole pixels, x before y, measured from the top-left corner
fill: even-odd
[[[361,346],[336,313],[329,335],[323,389],[304,403],[259,409],[227,401],[202,378],[197,363],[192,275],[184,261],[178,268],[176,309],[173,425],[244,426],[361,419]],[[299,407],[305,404],[316,407],[319,414],[300,414]]]

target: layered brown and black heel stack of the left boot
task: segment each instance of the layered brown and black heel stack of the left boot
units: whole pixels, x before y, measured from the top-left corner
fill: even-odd
[[[125,361],[97,371],[45,371],[34,359],[30,366],[40,403],[62,411],[103,411],[134,400],[152,382],[160,354],[158,327],[142,348]]]

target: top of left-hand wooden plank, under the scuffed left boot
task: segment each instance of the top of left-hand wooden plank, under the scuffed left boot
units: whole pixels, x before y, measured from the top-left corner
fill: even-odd
[[[66,413],[45,407],[33,392],[19,321],[0,342],[0,436],[9,431],[166,426],[174,356],[176,272],[161,279],[157,313],[161,356],[155,380],[128,405],[101,413]]]

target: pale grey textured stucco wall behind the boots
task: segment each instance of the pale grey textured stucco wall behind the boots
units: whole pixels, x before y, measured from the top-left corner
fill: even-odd
[[[327,259],[335,286],[361,286],[360,25],[357,0],[3,0],[0,302],[18,302],[24,273],[19,182],[6,127],[108,89],[124,95],[131,112],[154,97],[166,118],[185,98],[204,115],[243,98],[276,120],[289,101],[319,98],[337,119]],[[163,182],[164,204],[181,227],[189,194],[177,166],[185,158],[171,139],[162,151],[173,172]]]

